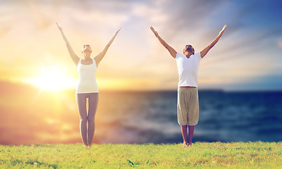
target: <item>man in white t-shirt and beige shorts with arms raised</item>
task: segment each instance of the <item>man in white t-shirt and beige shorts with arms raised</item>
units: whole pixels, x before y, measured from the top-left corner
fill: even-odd
[[[223,35],[226,25],[223,26],[219,35],[202,51],[195,54],[195,50],[191,45],[186,45],[183,54],[176,52],[171,46],[166,44],[156,30],[150,27],[159,42],[168,50],[169,54],[176,59],[178,67],[178,99],[177,99],[177,117],[183,136],[183,146],[192,146],[192,137],[199,121],[199,101],[197,91],[197,74],[199,64],[207,52],[219,42]],[[187,126],[188,125],[188,126]],[[189,130],[189,141],[187,141],[187,127]]]

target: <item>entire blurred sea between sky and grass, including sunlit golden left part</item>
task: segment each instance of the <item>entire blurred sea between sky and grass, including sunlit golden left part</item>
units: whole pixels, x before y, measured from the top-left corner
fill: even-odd
[[[75,90],[0,81],[0,144],[81,143]],[[199,90],[193,142],[282,142],[282,91]],[[99,92],[96,144],[180,143],[177,91]]]

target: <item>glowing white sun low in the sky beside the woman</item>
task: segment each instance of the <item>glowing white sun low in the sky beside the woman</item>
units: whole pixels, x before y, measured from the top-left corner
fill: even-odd
[[[27,81],[40,89],[54,92],[74,88],[76,83],[58,66],[41,68],[38,77]]]

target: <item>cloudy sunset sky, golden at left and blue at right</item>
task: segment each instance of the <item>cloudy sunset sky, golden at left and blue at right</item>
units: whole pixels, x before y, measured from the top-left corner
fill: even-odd
[[[200,52],[226,31],[205,56],[200,89],[282,89],[280,1],[8,1],[0,0],[0,80],[42,89],[75,89],[78,73],[56,27],[75,54],[99,54],[119,27],[97,70],[99,89],[177,89],[176,61],[154,37],[181,52]]]

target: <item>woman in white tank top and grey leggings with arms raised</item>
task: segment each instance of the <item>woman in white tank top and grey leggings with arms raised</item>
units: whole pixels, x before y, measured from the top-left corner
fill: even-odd
[[[71,44],[66,39],[66,36],[63,34],[63,30],[56,23],[59,30],[61,31],[61,35],[66,42],[66,46],[68,48],[68,52],[73,59],[79,75],[79,83],[75,92],[76,103],[78,104],[78,112],[80,114],[80,135],[82,137],[83,144],[90,148],[92,144],[92,139],[94,135],[94,118],[97,110],[97,104],[99,99],[99,90],[96,82],[96,72],[97,67],[102,61],[102,58],[105,56],[106,51],[109,49],[109,46],[114,41],[116,35],[121,30],[116,31],[113,38],[111,38],[110,42],[106,44],[104,50],[95,56],[94,58],[90,58],[92,53],[92,49],[89,44],[85,44],[82,46],[82,58],[79,58],[73,51]],[[86,111],[86,99],[88,98],[88,114]],[[88,122],[88,130],[87,130],[87,122]],[[87,138],[88,135],[88,138]]]

